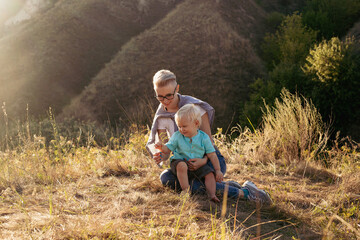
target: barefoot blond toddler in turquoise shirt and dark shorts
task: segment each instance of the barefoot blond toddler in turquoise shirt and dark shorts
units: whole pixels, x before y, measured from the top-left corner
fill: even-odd
[[[155,146],[165,154],[173,152],[171,157],[171,171],[177,176],[181,189],[189,190],[189,178],[205,179],[205,187],[209,198],[214,202],[220,202],[216,197],[216,181],[223,180],[220,163],[215,153],[210,137],[199,130],[201,125],[201,113],[199,107],[187,104],[175,114],[175,122],[179,131],[175,132],[170,140],[164,145],[157,143]],[[187,161],[193,158],[202,158],[206,154],[214,166],[204,165],[195,171],[189,171]],[[189,175],[188,175],[189,173]]]

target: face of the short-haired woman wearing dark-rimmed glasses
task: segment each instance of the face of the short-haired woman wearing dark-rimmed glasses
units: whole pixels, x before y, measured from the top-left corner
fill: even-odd
[[[161,102],[166,108],[175,109],[177,108],[177,93],[179,91],[178,85],[173,82],[169,83],[163,87],[154,88],[157,99]]]

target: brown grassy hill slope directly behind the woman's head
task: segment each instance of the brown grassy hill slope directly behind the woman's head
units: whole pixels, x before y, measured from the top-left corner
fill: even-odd
[[[248,84],[262,74],[253,43],[264,16],[255,1],[184,1],[124,45],[64,115],[149,122],[158,104],[152,76],[165,68],[177,75],[182,94],[209,102],[217,126],[227,127],[234,97],[246,99]]]

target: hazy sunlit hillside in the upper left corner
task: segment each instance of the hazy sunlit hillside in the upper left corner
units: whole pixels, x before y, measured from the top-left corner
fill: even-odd
[[[131,37],[177,1],[61,0],[0,39],[0,101],[14,116],[60,111]]]

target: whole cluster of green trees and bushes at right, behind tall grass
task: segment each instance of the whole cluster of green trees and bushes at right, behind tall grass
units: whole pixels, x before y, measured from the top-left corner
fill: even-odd
[[[259,123],[262,99],[272,105],[283,87],[311,98],[324,119],[344,134],[360,136],[359,43],[331,36],[344,35],[360,16],[360,1],[311,0],[302,14],[285,17],[262,44],[269,73],[252,85],[244,115]],[[315,29],[315,30],[313,30]],[[336,31],[335,31],[336,30]],[[319,32],[319,34],[318,34]],[[315,47],[317,35],[330,40]],[[246,124],[247,119],[240,119]]]

